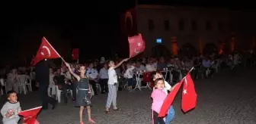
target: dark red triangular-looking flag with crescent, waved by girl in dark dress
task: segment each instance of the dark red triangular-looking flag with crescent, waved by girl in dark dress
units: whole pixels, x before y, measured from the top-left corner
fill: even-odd
[[[36,57],[34,57],[34,65],[36,65],[40,60],[43,59],[53,59],[59,58],[60,55],[57,51],[53,48],[52,45],[43,37],[40,48],[37,51]]]

